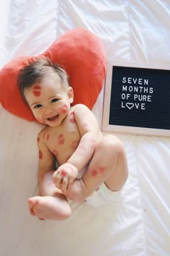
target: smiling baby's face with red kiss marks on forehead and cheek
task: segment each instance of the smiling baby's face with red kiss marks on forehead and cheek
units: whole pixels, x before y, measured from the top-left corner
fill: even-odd
[[[68,116],[73,102],[73,89],[64,88],[61,82],[46,80],[24,90],[32,113],[41,124],[58,127]]]

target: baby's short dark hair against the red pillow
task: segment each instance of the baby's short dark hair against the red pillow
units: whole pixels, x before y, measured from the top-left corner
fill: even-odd
[[[53,79],[59,78],[63,86],[66,88],[69,87],[68,74],[66,71],[58,64],[53,64],[50,59],[36,59],[31,64],[20,69],[17,83],[24,103],[27,103],[24,90],[30,88],[36,82],[42,82],[46,77],[52,75]]]

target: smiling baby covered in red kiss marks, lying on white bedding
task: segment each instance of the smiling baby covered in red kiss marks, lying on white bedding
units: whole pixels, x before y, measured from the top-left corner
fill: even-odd
[[[45,124],[37,137],[40,192],[28,200],[30,214],[64,220],[71,216],[68,198],[83,202],[101,184],[112,196],[122,189],[128,178],[122,142],[102,135],[89,108],[71,106],[66,71],[49,59],[37,59],[20,70],[18,84],[35,119]]]

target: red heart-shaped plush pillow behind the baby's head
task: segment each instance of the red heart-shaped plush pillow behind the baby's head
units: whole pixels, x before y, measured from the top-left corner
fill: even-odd
[[[66,69],[73,87],[73,104],[83,103],[90,109],[97,101],[106,74],[104,47],[93,33],[85,29],[66,32],[39,56],[45,56]],[[36,121],[30,108],[24,104],[17,87],[19,69],[35,61],[35,56],[13,59],[0,71],[0,102],[12,114]]]

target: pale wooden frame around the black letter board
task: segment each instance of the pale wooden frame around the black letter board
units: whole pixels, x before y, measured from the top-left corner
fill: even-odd
[[[123,134],[133,135],[149,135],[149,136],[162,136],[170,137],[170,129],[153,129],[143,127],[126,127],[119,125],[109,124],[109,109],[110,98],[112,89],[112,67],[138,67],[147,69],[167,69],[170,72],[170,66],[166,64],[144,64],[144,63],[131,63],[120,61],[109,61],[107,63],[107,76],[104,88],[104,108],[102,115],[102,132],[116,132]],[[114,67],[113,67],[114,68]],[[170,108],[170,101],[169,101]]]

